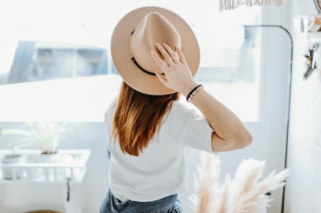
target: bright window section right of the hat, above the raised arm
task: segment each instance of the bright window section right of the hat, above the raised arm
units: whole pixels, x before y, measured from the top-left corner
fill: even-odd
[[[242,121],[258,121],[261,30],[235,26],[194,26],[193,30],[201,54],[196,82]]]

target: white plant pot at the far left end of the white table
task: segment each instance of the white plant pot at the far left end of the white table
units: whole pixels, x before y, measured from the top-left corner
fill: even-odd
[[[24,162],[23,155],[20,154],[8,154],[1,158],[2,163],[22,163]],[[21,168],[2,168],[3,177],[7,180],[12,180],[15,176],[17,179],[22,177]]]

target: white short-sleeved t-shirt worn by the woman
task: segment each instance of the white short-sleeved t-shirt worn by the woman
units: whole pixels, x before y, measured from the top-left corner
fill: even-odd
[[[132,156],[124,154],[111,137],[114,111],[112,104],[105,113],[112,194],[123,202],[149,202],[186,191],[190,148],[213,153],[213,129],[205,117],[174,102],[148,147]]]

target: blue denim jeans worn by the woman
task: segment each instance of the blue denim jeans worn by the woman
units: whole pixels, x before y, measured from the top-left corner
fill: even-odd
[[[176,195],[151,201],[151,202],[136,202],[128,200],[124,203],[119,203],[117,198],[113,196],[108,188],[108,191],[99,207],[98,213],[182,213],[182,207]]]

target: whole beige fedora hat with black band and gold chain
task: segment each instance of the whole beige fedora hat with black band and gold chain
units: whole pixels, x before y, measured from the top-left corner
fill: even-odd
[[[143,7],[126,14],[116,25],[111,38],[111,56],[122,79],[133,89],[154,96],[171,94],[155,76],[162,73],[150,55],[156,42],[173,50],[181,46],[195,76],[199,66],[199,46],[188,23],[174,12],[159,7]]]

